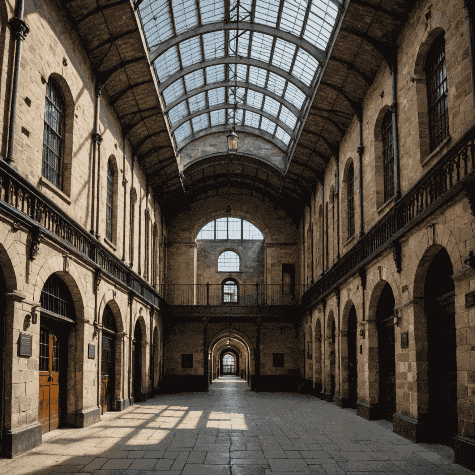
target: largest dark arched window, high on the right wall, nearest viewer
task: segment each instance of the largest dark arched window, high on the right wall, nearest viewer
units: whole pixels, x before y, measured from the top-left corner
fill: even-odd
[[[445,33],[441,33],[429,49],[426,78],[430,151],[433,152],[449,135]]]

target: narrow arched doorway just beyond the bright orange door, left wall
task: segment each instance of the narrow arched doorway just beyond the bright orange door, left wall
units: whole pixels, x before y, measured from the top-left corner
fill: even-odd
[[[102,413],[115,407],[115,335],[117,327],[115,317],[109,305],[102,315],[101,345],[101,406]]]

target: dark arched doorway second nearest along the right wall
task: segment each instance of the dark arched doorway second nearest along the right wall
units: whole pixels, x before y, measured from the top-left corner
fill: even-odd
[[[376,307],[379,356],[379,406],[381,418],[392,422],[396,412],[396,358],[394,347],[394,295],[386,283]]]

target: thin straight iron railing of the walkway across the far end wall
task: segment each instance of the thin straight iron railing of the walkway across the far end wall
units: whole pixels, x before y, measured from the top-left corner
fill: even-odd
[[[165,284],[159,286],[169,305],[300,305],[308,285]]]

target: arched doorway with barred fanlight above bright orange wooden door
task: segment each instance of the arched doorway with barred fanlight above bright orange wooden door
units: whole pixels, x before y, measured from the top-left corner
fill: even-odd
[[[76,314],[71,293],[57,274],[47,278],[40,303],[38,421],[44,434],[66,420],[68,335]]]

